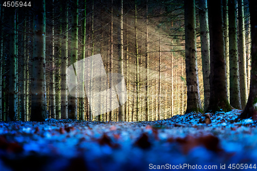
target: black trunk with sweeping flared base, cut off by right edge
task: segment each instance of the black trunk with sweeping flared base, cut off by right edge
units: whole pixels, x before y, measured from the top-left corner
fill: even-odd
[[[252,118],[252,120],[257,120],[257,21],[252,20],[257,17],[257,2],[254,0],[249,0],[250,17],[251,17],[251,59],[252,59],[252,69],[251,69],[251,83],[248,101],[244,111],[238,117],[238,119]]]

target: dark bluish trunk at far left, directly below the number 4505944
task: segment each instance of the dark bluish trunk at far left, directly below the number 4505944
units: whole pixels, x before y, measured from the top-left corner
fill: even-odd
[[[17,70],[17,56],[16,56],[16,22],[15,22],[15,9],[10,9],[10,15],[9,15],[9,26],[10,26],[10,40],[9,40],[9,50],[10,50],[10,56],[9,56],[9,66],[10,66],[10,72],[9,72],[9,121],[15,121],[17,120],[17,82],[16,82],[16,70]]]

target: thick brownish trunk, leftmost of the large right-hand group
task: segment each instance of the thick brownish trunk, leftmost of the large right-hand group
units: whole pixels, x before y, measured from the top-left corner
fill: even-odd
[[[196,27],[195,1],[185,3],[185,39],[186,39],[186,77],[187,77],[187,110],[201,112],[197,59],[196,59]]]

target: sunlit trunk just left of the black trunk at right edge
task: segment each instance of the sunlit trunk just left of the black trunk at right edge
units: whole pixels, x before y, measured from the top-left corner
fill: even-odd
[[[240,74],[240,95],[242,108],[245,108],[247,102],[247,75],[246,75],[246,47],[245,47],[245,23],[244,23],[244,5],[242,0],[238,0],[238,59]]]

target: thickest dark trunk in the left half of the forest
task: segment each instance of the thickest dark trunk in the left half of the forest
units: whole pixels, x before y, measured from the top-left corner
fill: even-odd
[[[45,80],[45,0],[34,1],[33,58],[31,78],[31,121],[45,121],[46,80]]]

